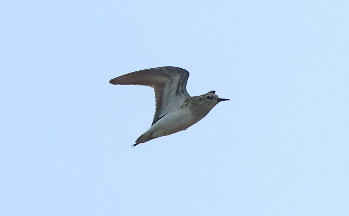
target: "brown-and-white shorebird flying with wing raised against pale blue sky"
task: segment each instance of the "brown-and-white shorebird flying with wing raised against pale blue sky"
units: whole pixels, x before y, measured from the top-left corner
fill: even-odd
[[[189,72],[179,67],[157,67],[125,74],[109,82],[114,85],[147,85],[154,88],[156,110],[150,128],[132,145],[185,131],[205,117],[219,102],[216,91],[191,97],[186,89]]]

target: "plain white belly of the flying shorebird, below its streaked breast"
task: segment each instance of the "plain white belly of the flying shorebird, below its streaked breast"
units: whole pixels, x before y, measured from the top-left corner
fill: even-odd
[[[153,126],[156,132],[152,137],[166,136],[194,125],[200,119],[195,118],[188,109],[176,109],[159,119]]]

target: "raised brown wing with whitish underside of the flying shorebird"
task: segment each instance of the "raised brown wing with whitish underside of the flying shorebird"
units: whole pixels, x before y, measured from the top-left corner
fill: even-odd
[[[154,88],[157,120],[184,103],[190,95],[186,85],[189,72],[179,67],[157,67],[125,74],[109,82],[114,85],[147,85]]]

